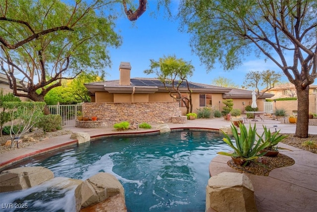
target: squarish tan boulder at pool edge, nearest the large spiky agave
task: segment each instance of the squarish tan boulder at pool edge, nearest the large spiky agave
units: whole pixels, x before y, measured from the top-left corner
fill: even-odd
[[[206,211],[257,212],[254,188],[244,173],[222,172],[206,188]]]

